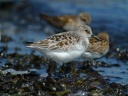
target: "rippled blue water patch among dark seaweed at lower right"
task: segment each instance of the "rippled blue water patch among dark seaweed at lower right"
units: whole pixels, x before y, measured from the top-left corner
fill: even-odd
[[[98,67],[96,70],[99,70],[100,74],[104,76],[105,79],[109,78],[110,82],[116,82],[122,85],[128,84],[128,62],[123,63],[114,58],[105,59],[102,61],[107,62],[109,65],[111,64],[119,64],[119,66],[113,67]]]

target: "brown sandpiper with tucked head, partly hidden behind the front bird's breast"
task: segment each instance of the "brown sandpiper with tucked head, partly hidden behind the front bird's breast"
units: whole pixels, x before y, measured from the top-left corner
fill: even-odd
[[[93,61],[94,59],[101,58],[109,51],[109,35],[106,32],[101,32],[97,37],[100,40],[93,37],[89,39],[89,46],[83,54],[86,60]]]

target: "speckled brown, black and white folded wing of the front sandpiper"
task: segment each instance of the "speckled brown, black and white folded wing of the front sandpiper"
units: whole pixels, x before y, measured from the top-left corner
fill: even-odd
[[[76,42],[79,42],[79,37],[77,35],[72,32],[64,32],[52,35],[45,40],[34,42],[29,46],[40,49],[66,51],[73,47]]]

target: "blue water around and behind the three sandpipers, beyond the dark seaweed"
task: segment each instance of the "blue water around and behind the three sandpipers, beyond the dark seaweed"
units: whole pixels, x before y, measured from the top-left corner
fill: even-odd
[[[80,12],[90,14],[94,34],[106,31],[110,35],[110,53],[113,50],[128,51],[128,0],[12,0],[0,1],[0,24],[2,42],[0,48],[7,47],[6,54],[17,52],[31,54],[24,42],[38,41],[56,33],[56,29],[38,17],[40,13],[49,15],[76,15]],[[5,38],[10,38],[5,40]],[[42,56],[39,52],[35,55]],[[115,56],[115,55],[114,55]],[[126,60],[113,55],[102,58],[107,64],[119,67],[98,67],[96,70],[110,82],[128,84],[128,54]],[[8,59],[0,59],[3,66]],[[21,69],[22,70],[22,69]],[[42,72],[42,71],[41,71]],[[44,71],[43,71],[44,72]]]

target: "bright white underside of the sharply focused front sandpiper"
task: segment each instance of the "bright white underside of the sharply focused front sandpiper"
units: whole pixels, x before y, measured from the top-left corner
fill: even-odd
[[[77,44],[68,51],[52,51],[52,50],[40,50],[44,56],[51,58],[59,64],[67,63],[73,61],[85,52],[85,47],[83,45]]]

